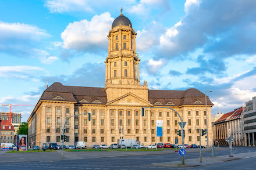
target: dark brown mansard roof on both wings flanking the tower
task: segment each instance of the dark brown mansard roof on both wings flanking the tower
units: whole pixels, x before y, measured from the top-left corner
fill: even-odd
[[[56,96],[62,99],[56,99]],[[56,100],[80,103],[81,100],[87,100],[86,104],[106,104],[107,97],[104,88],[83,87],[83,86],[65,86],[55,82],[47,88],[42,94],[40,100]],[[99,100],[100,103],[95,103]],[[186,91],[168,91],[168,90],[148,90],[148,101],[155,106],[181,106],[181,105],[204,105],[205,95],[197,89],[187,89]],[[201,103],[195,103],[200,101]],[[160,102],[161,104],[155,104]],[[170,104],[173,103],[173,104]],[[214,105],[207,98],[208,105]]]

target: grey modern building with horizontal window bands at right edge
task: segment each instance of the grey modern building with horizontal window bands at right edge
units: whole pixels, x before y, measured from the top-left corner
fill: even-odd
[[[256,138],[256,97],[243,107],[243,134],[245,146],[255,146]]]

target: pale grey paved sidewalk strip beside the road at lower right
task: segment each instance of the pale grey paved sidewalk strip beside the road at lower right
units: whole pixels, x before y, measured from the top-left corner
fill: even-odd
[[[200,158],[187,159],[185,160],[185,165],[181,165],[181,160],[173,161],[173,162],[165,162],[165,163],[153,163],[152,165],[163,166],[163,167],[197,167],[201,165],[216,164],[216,163],[239,160],[239,159],[250,158],[250,157],[256,157],[256,152],[233,154],[233,157],[229,157],[229,156],[214,157],[214,158],[202,157],[202,162],[200,162]]]

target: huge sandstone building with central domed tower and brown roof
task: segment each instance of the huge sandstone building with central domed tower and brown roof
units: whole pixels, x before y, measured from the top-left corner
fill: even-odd
[[[200,129],[207,128],[212,144],[211,100],[197,89],[186,91],[150,90],[147,82],[140,84],[139,62],[136,53],[136,32],[130,20],[117,17],[108,34],[108,56],[105,60],[105,87],[67,86],[55,82],[41,95],[29,119],[28,143],[61,144],[65,126],[66,144],[83,140],[87,147],[94,144],[117,143],[119,139],[137,139],[141,144],[175,143],[181,136],[179,116],[182,117],[186,144],[199,144]],[[103,81],[103,80],[102,80]],[[145,116],[141,116],[141,107]],[[151,107],[151,108],[149,108]],[[172,109],[169,109],[169,108]],[[207,115],[206,115],[207,113]],[[208,119],[207,119],[208,117]],[[157,137],[157,120],[163,121],[163,136]],[[122,137],[121,137],[122,136]],[[202,140],[206,146],[207,141]]]

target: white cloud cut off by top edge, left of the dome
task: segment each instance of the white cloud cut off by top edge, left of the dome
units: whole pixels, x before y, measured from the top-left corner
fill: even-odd
[[[52,13],[76,11],[93,12],[90,4],[89,1],[84,0],[49,0],[46,1],[45,6],[47,6]]]

